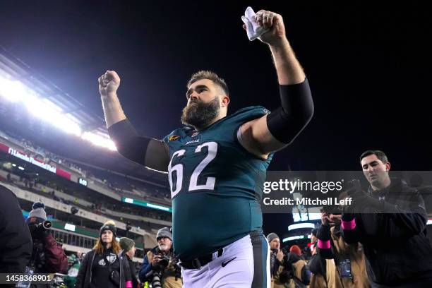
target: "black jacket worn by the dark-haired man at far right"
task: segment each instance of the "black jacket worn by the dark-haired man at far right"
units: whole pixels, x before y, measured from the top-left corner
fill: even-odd
[[[428,217],[419,192],[404,181],[392,180],[388,188],[370,195],[385,201],[383,209],[355,214],[355,229],[342,229],[348,244],[363,244],[369,279],[400,285],[432,275]],[[342,214],[342,220],[349,221],[346,217]]]

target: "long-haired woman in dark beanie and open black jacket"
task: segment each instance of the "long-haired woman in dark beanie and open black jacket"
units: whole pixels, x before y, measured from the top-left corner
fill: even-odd
[[[113,221],[100,228],[99,240],[80,265],[75,287],[132,288],[128,260],[116,241],[116,230]]]

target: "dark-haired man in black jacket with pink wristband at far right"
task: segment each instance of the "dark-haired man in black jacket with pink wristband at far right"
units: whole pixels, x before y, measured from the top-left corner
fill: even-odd
[[[342,236],[364,246],[372,287],[432,287],[432,246],[426,238],[424,200],[415,188],[390,179],[384,152],[368,150],[361,167],[368,193],[349,189],[353,205],[342,214]]]

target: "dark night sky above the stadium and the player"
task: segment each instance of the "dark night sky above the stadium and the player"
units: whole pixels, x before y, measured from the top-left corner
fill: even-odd
[[[423,4],[183,2],[1,1],[0,45],[99,116],[97,78],[117,71],[128,118],[162,138],[179,126],[186,82],[201,69],[227,80],[229,112],[278,107],[268,47],[241,28],[247,6],[265,8],[283,16],[315,102],[311,123],[270,169],[356,170],[368,148],[384,150],[392,169],[432,169]],[[286,231],[287,218],[265,215],[265,233]]]

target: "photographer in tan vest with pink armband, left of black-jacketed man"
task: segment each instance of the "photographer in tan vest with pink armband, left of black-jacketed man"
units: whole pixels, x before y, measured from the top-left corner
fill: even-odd
[[[340,214],[321,212],[321,226],[317,232],[318,254],[321,258],[335,260],[335,276],[340,278],[341,287],[371,287],[362,246],[358,243],[349,245],[342,239],[341,217]]]

